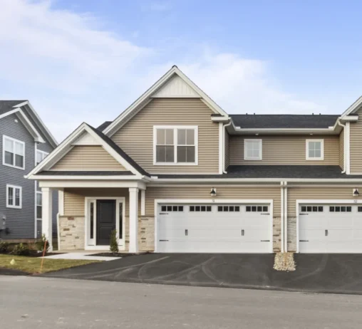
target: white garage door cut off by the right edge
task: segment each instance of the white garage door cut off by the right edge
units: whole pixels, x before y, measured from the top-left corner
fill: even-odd
[[[362,207],[353,204],[301,205],[299,252],[362,253]]]

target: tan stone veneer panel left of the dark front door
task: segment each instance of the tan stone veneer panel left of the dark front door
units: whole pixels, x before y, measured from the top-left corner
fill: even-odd
[[[59,216],[59,250],[84,249],[84,217]]]

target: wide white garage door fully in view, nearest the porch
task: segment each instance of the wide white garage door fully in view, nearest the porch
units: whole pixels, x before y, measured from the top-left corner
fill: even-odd
[[[157,252],[270,253],[269,204],[160,204]]]

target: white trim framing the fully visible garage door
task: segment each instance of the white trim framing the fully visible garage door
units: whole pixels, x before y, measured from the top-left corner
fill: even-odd
[[[158,206],[159,204],[270,204],[270,252],[273,252],[273,199],[155,199],[155,253],[158,246]]]

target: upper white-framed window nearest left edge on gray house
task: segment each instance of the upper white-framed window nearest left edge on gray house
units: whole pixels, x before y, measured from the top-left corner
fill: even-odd
[[[3,136],[3,164],[19,169],[25,168],[25,143]]]

